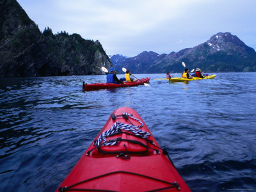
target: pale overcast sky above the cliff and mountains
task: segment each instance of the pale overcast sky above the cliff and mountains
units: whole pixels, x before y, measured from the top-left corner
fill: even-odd
[[[41,31],[99,40],[108,55],[169,54],[230,32],[256,48],[255,0],[17,0]]]

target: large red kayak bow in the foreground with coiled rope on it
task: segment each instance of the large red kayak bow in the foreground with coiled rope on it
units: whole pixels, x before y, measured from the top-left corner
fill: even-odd
[[[118,108],[56,191],[190,191],[141,116]]]

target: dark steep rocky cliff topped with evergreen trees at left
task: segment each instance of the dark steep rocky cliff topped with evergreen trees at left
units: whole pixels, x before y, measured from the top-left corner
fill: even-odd
[[[44,32],[15,0],[0,0],[0,77],[104,74],[112,66],[99,41]]]

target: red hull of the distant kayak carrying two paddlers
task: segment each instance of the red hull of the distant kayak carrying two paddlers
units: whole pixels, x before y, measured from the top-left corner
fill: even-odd
[[[84,91],[101,90],[109,88],[127,87],[127,86],[138,86],[143,83],[149,83],[150,77],[139,79],[137,82],[124,82],[125,84],[116,83],[92,83],[83,84]]]

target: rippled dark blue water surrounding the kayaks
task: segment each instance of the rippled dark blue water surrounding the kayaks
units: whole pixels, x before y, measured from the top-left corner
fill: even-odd
[[[0,191],[54,191],[122,106],[138,111],[192,191],[256,191],[256,73],[188,84],[136,76],[151,87],[82,92],[106,76],[1,79]]]

